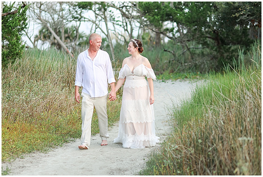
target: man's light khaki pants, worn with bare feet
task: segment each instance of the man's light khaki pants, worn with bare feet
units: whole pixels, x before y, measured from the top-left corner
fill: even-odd
[[[108,94],[101,97],[91,98],[86,93],[81,93],[82,105],[81,105],[81,118],[82,118],[82,134],[81,145],[85,145],[89,149],[90,137],[91,137],[91,118],[93,115],[93,107],[96,109],[96,113],[99,120],[100,138],[107,140],[108,135],[108,116],[107,116],[107,98]]]

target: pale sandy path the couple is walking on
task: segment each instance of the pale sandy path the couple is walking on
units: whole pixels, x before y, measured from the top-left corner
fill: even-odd
[[[178,103],[190,96],[195,84],[179,80],[154,81],[156,135],[161,141],[170,132],[165,107],[170,105],[171,99]],[[139,172],[147,153],[154,147],[124,149],[121,143],[113,143],[118,135],[117,124],[108,133],[107,146],[100,146],[100,136],[96,135],[91,137],[89,150],[79,150],[80,139],[76,139],[47,154],[35,152],[24,159],[2,163],[2,168],[9,168],[9,175],[133,175]]]

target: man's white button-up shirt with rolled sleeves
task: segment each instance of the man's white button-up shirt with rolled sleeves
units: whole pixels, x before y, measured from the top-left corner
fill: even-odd
[[[75,85],[82,86],[82,92],[92,98],[105,96],[108,93],[108,83],[113,82],[115,79],[110,56],[106,51],[99,49],[93,60],[88,50],[79,54]]]

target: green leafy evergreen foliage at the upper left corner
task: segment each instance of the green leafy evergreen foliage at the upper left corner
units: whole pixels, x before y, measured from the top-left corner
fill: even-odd
[[[13,10],[14,3],[3,6],[3,13]],[[2,16],[2,68],[22,57],[25,45],[21,45],[21,34],[27,23],[27,6],[13,15]]]

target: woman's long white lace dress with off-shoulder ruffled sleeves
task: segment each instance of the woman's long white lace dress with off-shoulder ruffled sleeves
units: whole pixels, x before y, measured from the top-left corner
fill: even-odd
[[[154,71],[143,64],[131,71],[125,64],[118,79],[125,77],[119,134],[114,143],[133,149],[155,146],[159,137],[155,136],[153,105],[150,105],[150,90],[145,79],[156,80]]]

